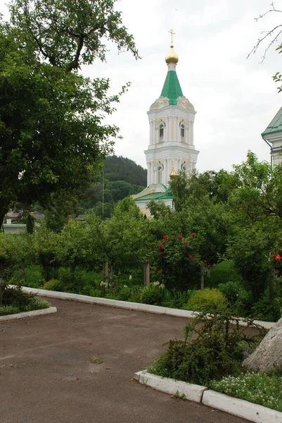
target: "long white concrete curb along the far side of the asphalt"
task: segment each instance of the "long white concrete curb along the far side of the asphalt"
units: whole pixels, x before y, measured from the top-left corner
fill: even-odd
[[[189,310],[181,310],[181,309],[172,309],[169,307],[160,307],[159,305],[148,305],[148,304],[140,304],[139,302],[110,300],[110,298],[90,297],[89,295],[61,293],[58,291],[51,291],[46,289],[29,288],[27,286],[23,286],[23,291],[25,291],[26,293],[40,295],[42,297],[58,298],[59,300],[75,300],[79,302],[86,302],[89,304],[108,305],[109,307],[124,308],[129,310],[139,310],[140,312],[168,314],[169,316],[175,316],[175,317],[186,317],[186,319],[193,319],[199,314],[198,312],[191,312]],[[240,326],[247,326],[246,322],[243,321],[243,319],[238,319],[238,321]],[[264,329],[271,329],[271,327],[274,326],[275,324],[274,321],[260,321],[260,320],[254,320],[254,323],[259,324],[259,326],[262,326]]]

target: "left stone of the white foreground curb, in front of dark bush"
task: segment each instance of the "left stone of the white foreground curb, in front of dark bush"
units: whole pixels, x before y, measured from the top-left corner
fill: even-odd
[[[186,400],[200,403],[203,397],[203,392],[207,389],[205,386],[186,384],[186,382],[174,381],[166,377],[157,376],[148,372],[136,372],[134,379],[138,380],[140,384],[150,386],[171,395],[183,396]]]

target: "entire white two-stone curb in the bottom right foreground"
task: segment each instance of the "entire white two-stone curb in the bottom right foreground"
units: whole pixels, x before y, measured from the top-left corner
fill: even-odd
[[[254,423],[281,423],[282,412],[271,410],[271,408],[263,407],[262,405],[249,403],[239,398],[234,398],[207,389],[205,386],[188,384],[182,381],[176,381],[155,374],[150,374],[143,370],[134,373],[134,379],[140,384],[150,386],[156,391],[169,393],[175,396],[178,391],[179,396],[184,396],[186,400],[195,403],[202,403],[207,407],[217,408],[228,412],[231,415],[242,417]]]

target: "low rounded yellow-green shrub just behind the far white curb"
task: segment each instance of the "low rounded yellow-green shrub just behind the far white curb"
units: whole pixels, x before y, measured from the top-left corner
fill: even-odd
[[[216,288],[205,288],[192,293],[187,308],[197,312],[212,312],[227,306],[224,295]]]

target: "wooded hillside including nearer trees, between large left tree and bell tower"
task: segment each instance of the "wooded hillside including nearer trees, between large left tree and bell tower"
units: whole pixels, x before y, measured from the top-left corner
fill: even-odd
[[[116,202],[137,194],[146,185],[146,169],[126,157],[110,156],[105,160],[104,175],[84,192],[79,202],[81,212],[94,209],[98,216],[109,217]]]

